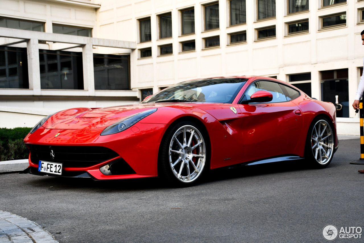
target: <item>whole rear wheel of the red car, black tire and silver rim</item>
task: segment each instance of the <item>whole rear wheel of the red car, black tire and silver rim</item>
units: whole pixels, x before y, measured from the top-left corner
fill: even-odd
[[[325,168],[334,154],[334,132],[324,117],[315,118],[309,129],[305,145],[305,158],[315,168]]]

